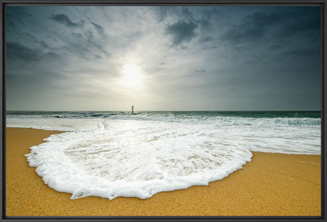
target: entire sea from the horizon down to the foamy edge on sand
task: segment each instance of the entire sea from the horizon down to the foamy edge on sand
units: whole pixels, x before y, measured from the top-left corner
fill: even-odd
[[[45,184],[149,198],[227,177],[251,151],[320,155],[320,111],[7,111],[7,127],[65,131],[30,147]]]

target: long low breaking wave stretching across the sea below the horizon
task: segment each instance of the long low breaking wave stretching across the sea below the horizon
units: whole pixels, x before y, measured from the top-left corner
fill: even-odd
[[[207,115],[177,115],[174,113],[135,113],[128,112],[68,112],[61,115],[7,115],[7,119],[112,119],[112,120],[143,120],[180,123],[207,123],[217,125],[254,125],[254,126],[298,126],[319,127],[320,118],[308,117],[275,117],[275,118],[247,118],[235,116],[207,116]]]

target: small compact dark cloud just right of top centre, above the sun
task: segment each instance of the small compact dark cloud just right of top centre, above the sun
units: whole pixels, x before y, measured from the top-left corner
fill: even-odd
[[[165,33],[172,36],[172,45],[177,47],[182,43],[187,43],[195,37],[195,29],[198,27],[193,22],[178,21],[165,28]]]

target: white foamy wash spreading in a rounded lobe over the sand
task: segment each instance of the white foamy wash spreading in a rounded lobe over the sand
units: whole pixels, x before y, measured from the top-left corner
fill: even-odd
[[[319,127],[98,120],[96,128],[52,135],[26,156],[45,184],[71,193],[71,199],[144,199],[223,179],[251,161],[250,150],[320,154],[318,131]]]

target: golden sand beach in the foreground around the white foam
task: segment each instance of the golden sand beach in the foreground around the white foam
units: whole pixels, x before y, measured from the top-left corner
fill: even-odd
[[[148,199],[89,196],[71,200],[29,167],[29,147],[60,131],[7,128],[7,216],[320,215],[320,155],[253,152],[252,161],[209,186]]]

